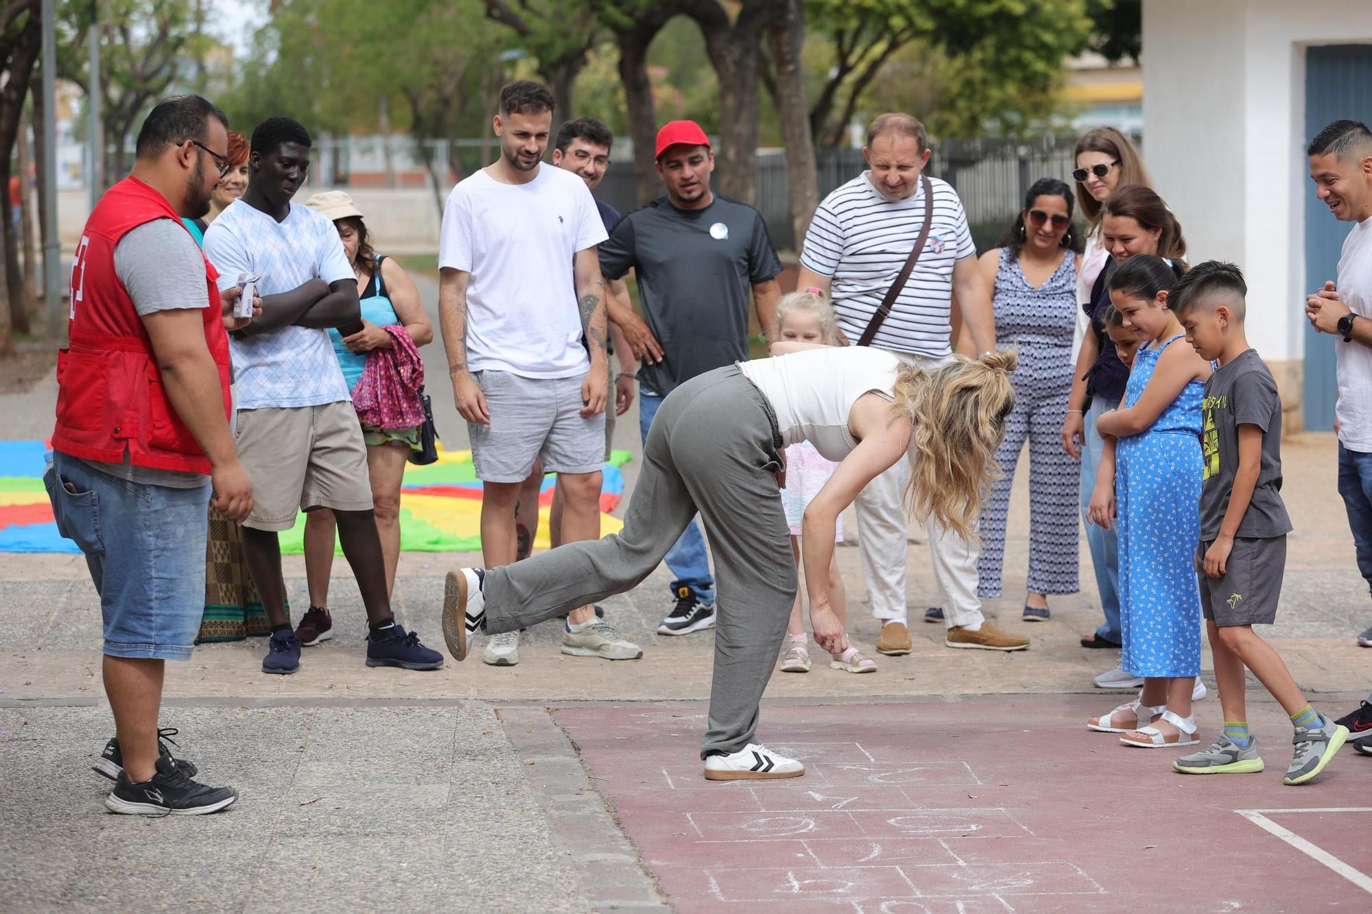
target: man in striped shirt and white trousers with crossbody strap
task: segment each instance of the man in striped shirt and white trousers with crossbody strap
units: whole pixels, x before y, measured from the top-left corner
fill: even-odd
[[[825,198],[805,233],[797,288],[815,287],[833,301],[838,327],[862,338],[895,284],[925,221],[921,173],[929,163],[923,125],[908,114],[882,114],[863,148],[870,170]],[[977,269],[967,215],[952,187],[930,178],[929,236],[908,281],[871,344],[901,361],[934,369],[952,361],[952,295],[978,353],[996,347],[991,290]],[[877,651],[911,651],[906,608],[906,461],[884,472],[856,500],[858,537],[871,612],[882,620]],[[977,546],[945,534],[929,520],[934,576],[947,596],[949,648],[1021,651],[1029,640],[996,629],[977,598]]]

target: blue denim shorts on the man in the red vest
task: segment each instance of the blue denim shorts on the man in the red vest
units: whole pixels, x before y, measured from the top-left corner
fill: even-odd
[[[111,657],[189,660],[204,615],[210,486],[145,486],[54,454],[43,484],[85,553]]]

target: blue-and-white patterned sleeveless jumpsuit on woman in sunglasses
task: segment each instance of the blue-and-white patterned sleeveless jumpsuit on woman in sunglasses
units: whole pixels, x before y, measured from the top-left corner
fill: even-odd
[[[1015,408],[1006,417],[1006,439],[996,452],[1003,476],[981,506],[981,559],[977,594],[1000,596],[1006,553],[1006,515],[1015,464],[1029,439],[1029,579],[1032,593],[1077,593],[1077,489],[1080,468],[1062,450],[1062,423],[1072,392],[1072,336],[1077,321],[1076,257],[1063,251],[1052,276],[1030,285],[1019,258],[1000,248],[996,270],[996,347],[1018,349],[1010,380]]]

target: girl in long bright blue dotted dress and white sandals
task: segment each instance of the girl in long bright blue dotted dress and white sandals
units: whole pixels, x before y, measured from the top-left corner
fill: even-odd
[[[1139,699],[1092,718],[1089,727],[1122,733],[1125,745],[1199,742],[1191,692],[1200,675],[1200,401],[1210,364],[1185,342],[1168,309],[1184,269],[1155,255],[1131,257],[1110,279],[1110,301],[1144,342],[1121,409],[1103,414],[1107,438],[1091,515],[1118,516],[1120,604],[1126,672],[1143,677]],[[1111,446],[1113,445],[1113,446]],[[1148,726],[1144,718],[1151,720]]]

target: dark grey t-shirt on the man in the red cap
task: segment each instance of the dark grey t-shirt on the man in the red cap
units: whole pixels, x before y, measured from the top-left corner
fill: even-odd
[[[715,195],[702,210],[664,196],[619,221],[600,246],[601,272],[634,269],[643,320],[663,344],[638,380],[661,397],[708,371],[748,358],[752,285],[775,279],[781,261],[761,214]]]

